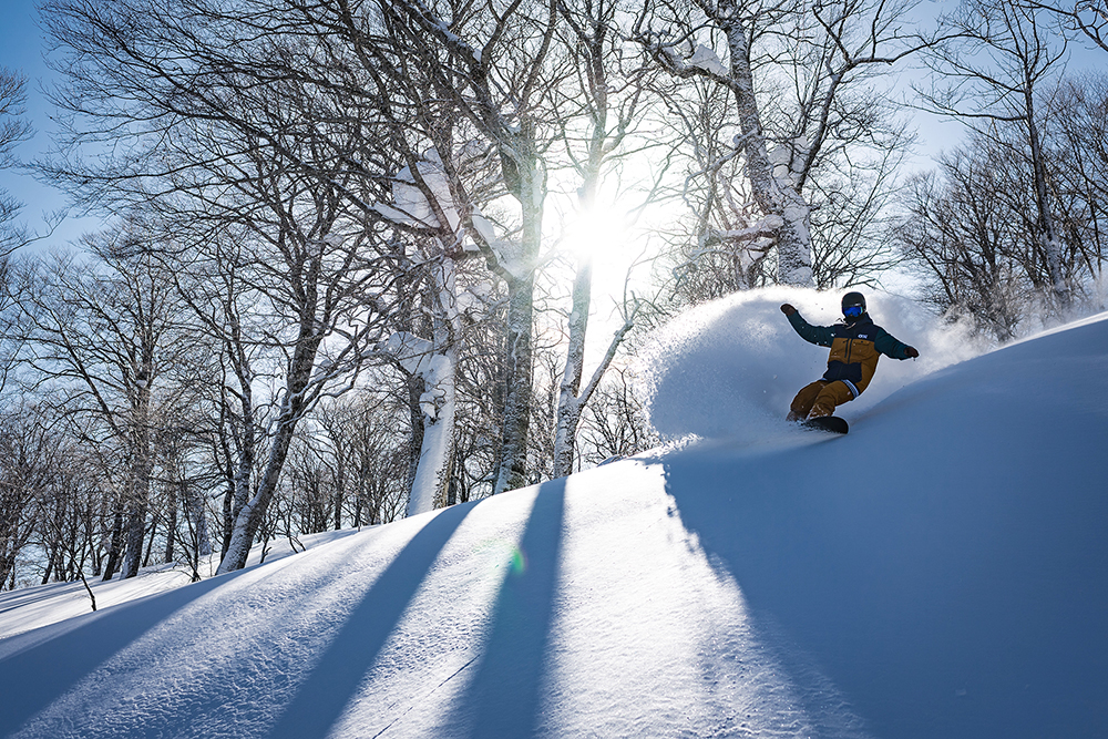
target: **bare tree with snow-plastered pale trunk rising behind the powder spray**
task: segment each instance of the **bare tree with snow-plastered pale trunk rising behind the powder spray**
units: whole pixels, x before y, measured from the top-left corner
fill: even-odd
[[[695,90],[696,104],[720,105],[711,85],[731,99],[733,117],[707,131],[704,121],[718,113],[684,110],[679,96],[671,109],[699,138],[693,143],[698,163],[690,176],[704,179],[707,193],[698,208],[697,249],[747,252],[736,259],[739,288],[751,286],[770,249],[777,255],[773,280],[812,284],[817,245],[824,253],[834,248],[884,204],[878,191],[897,162],[889,153],[902,150],[907,137],[883,102],[880,76],[936,42],[911,30],[906,17],[913,6],[853,0],[646,6],[635,38],[658,64],[708,88]],[[705,141],[720,134],[730,140]],[[866,157],[866,150],[874,154]],[[742,187],[730,184],[735,176],[742,177]],[[869,193],[858,187],[863,177],[871,182]],[[853,192],[833,202],[830,195],[844,185]],[[847,207],[859,201],[866,207]],[[830,232],[822,242],[812,234],[813,206],[821,213],[820,230]],[[860,240],[855,236],[853,244]],[[872,255],[856,258],[860,265],[872,261]],[[842,275],[825,261],[818,266],[821,285]]]

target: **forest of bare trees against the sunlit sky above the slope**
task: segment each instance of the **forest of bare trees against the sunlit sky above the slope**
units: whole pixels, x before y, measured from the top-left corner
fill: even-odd
[[[0,72],[0,166],[103,228],[52,245],[0,193],[0,588],[232,572],[649,449],[636,347],[738,290],[895,270],[997,342],[1102,309],[1108,78],[1066,69],[1108,59],[1102,0],[40,20],[60,131],[17,162],[27,83]],[[929,171],[919,109],[967,131]],[[598,216],[637,255],[612,295],[617,245],[574,244]]]

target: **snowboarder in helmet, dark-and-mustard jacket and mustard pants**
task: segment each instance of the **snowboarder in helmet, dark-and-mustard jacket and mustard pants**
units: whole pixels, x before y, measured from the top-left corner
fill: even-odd
[[[812,326],[788,302],[781,306],[781,312],[789,317],[800,338],[821,347],[831,347],[828,371],[815,382],[800,389],[789,409],[790,421],[829,417],[837,406],[858,398],[870,384],[880,355],[893,359],[920,356],[915,347],[897,341],[889,331],[873,324],[865,312],[865,297],[861,292],[842,296],[843,320],[834,326]]]

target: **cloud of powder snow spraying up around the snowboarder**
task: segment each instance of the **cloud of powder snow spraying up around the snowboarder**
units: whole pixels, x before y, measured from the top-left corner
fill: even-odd
[[[781,312],[792,304],[804,319],[829,326],[842,318],[847,290],[778,286],[737,292],[686,311],[661,329],[642,356],[638,376],[650,423],[665,439],[688,435],[758,441],[789,433],[784,415],[796,392],[827,369],[828,350],[801,339]],[[883,357],[865,392],[843,406],[859,418],[893,391],[984,348],[962,326],[925,306],[862,289],[870,316],[920,359]]]

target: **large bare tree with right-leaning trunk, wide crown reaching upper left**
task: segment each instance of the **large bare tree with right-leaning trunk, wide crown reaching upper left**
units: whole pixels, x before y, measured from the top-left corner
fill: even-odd
[[[350,386],[380,339],[372,296],[388,286],[376,281],[375,259],[389,257],[376,250],[366,211],[346,209],[372,183],[335,151],[368,142],[357,121],[320,114],[312,80],[274,74],[307,58],[300,37],[266,28],[280,17],[217,2],[59,0],[44,18],[69,50],[57,99],[74,116],[66,156],[44,171],[92,203],[148,203],[174,236],[161,257],[195,290],[194,316],[224,346],[236,403],[224,418],[239,425],[237,510],[220,572],[240,568],[297,423]],[[121,157],[76,158],[105,136],[121,143]]]

